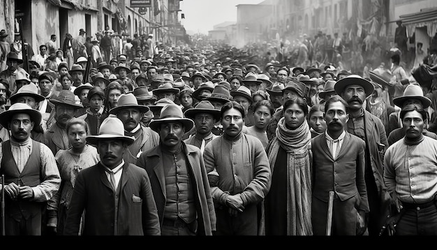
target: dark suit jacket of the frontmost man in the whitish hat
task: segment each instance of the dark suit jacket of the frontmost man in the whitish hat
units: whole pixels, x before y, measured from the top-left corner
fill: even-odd
[[[67,212],[64,235],[77,235],[85,210],[83,235],[161,235],[158,212],[147,172],[124,163],[115,221],[114,191],[101,163],[79,172]],[[134,197],[136,196],[136,197]]]

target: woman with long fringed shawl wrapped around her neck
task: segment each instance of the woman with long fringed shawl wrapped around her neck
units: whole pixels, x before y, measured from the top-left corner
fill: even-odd
[[[276,136],[267,147],[272,186],[265,198],[265,235],[313,235],[307,115],[304,98],[286,101]]]

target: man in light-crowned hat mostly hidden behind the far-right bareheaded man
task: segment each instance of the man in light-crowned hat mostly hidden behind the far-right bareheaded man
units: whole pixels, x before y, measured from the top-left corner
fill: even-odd
[[[416,104],[422,105],[422,108],[424,108],[424,110],[427,110],[427,108],[429,108],[429,105],[431,105],[431,99],[423,95],[422,87],[420,87],[419,85],[408,84],[403,91],[403,96],[393,98],[393,103],[401,109],[406,105]],[[396,117],[396,119],[398,118]],[[426,117],[426,119],[424,119],[422,134],[437,140],[436,133],[427,130],[428,124],[429,117]],[[405,130],[402,127],[394,128],[394,130],[391,131],[387,136],[388,145],[394,144],[394,142],[401,140],[404,136]]]

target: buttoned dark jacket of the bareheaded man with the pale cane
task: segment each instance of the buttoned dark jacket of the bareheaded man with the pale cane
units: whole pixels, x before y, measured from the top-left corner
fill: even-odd
[[[358,193],[361,202],[357,209],[369,212],[364,180],[364,149],[363,140],[346,132],[340,152],[334,159],[329,151],[325,133],[311,139],[313,196],[327,202],[329,191],[334,191],[343,201]]]

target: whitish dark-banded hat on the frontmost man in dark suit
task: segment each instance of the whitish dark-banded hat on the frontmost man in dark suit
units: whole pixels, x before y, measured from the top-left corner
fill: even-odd
[[[107,117],[103,120],[98,135],[88,135],[87,142],[98,145],[98,140],[123,140],[131,145],[135,138],[124,135],[124,124],[117,117]]]

